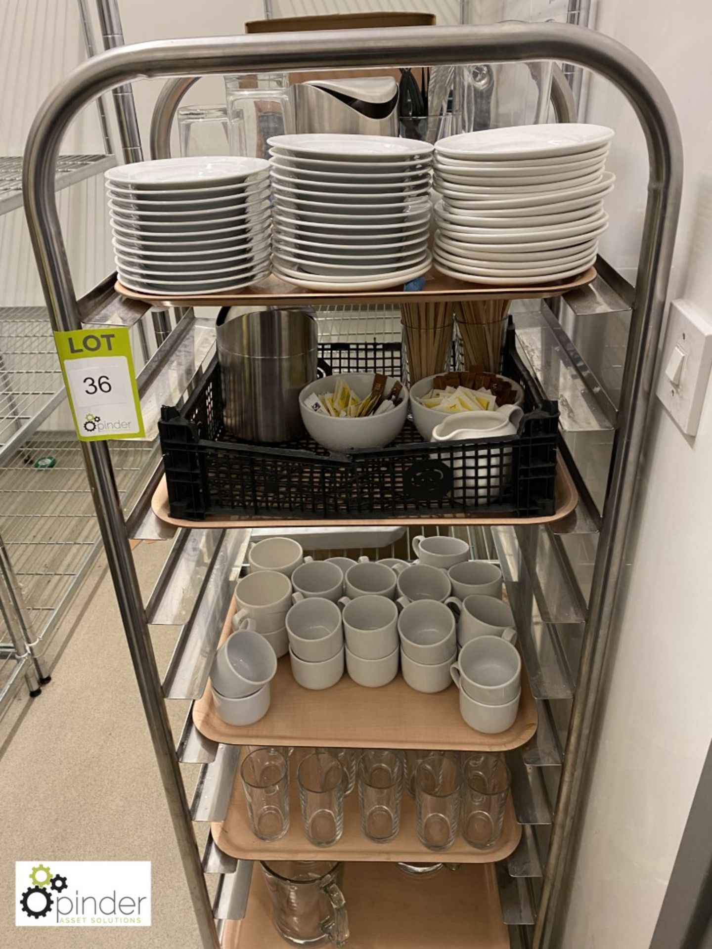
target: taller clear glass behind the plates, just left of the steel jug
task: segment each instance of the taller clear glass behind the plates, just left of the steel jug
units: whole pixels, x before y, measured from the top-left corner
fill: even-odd
[[[226,76],[225,97],[231,154],[270,158],[267,140],[293,131],[286,73]]]

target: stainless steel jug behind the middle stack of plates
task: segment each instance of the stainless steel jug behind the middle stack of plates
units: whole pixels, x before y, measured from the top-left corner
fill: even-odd
[[[291,86],[298,133],[398,135],[398,84],[390,76]]]

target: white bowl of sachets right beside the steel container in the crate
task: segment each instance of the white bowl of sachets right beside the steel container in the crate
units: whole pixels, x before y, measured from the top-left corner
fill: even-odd
[[[336,381],[343,379],[357,396],[365,399],[373,385],[373,373],[348,372],[341,376],[326,376],[309,382],[299,393],[299,410],[309,435],[330,452],[351,452],[367,448],[384,448],[403,428],[408,412],[408,390],[403,386],[401,398],[394,409],[380,416],[365,419],[334,419],[324,412],[314,412],[305,405],[309,396],[333,392]],[[396,380],[388,377],[386,391]]]

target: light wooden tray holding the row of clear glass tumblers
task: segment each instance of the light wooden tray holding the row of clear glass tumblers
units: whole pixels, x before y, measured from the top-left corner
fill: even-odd
[[[296,753],[295,753],[296,756]],[[235,773],[233,794],[228,813],[222,824],[213,825],[215,843],[225,853],[240,860],[363,860],[371,862],[399,860],[438,863],[446,860],[453,864],[491,864],[504,860],[517,847],[521,827],[515,821],[512,798],[507,799],[502,834],[497,847],[476,850],[458,836],[449,850],[435,852],[423,847],[416,832],[415,801],[403,791],[401,829],[388,844],[374,844],[361,830],[358,791],[354,788],[344,800],[344,833],[333,847],[314,847],[304,835],[299,810],[299,790],[296,780],[296,762],[290,761],[290,829],[281,840],[266,843],[255,837],[247,814],[245,792],[240,772]]]

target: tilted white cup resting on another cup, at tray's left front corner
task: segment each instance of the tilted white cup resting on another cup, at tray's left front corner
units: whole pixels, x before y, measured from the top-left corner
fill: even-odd
[[[215,653],[210,681],[224,698],[244,698],[267,685],[276,671],[277,658],[270,643],[253,629],[241,628]]]

